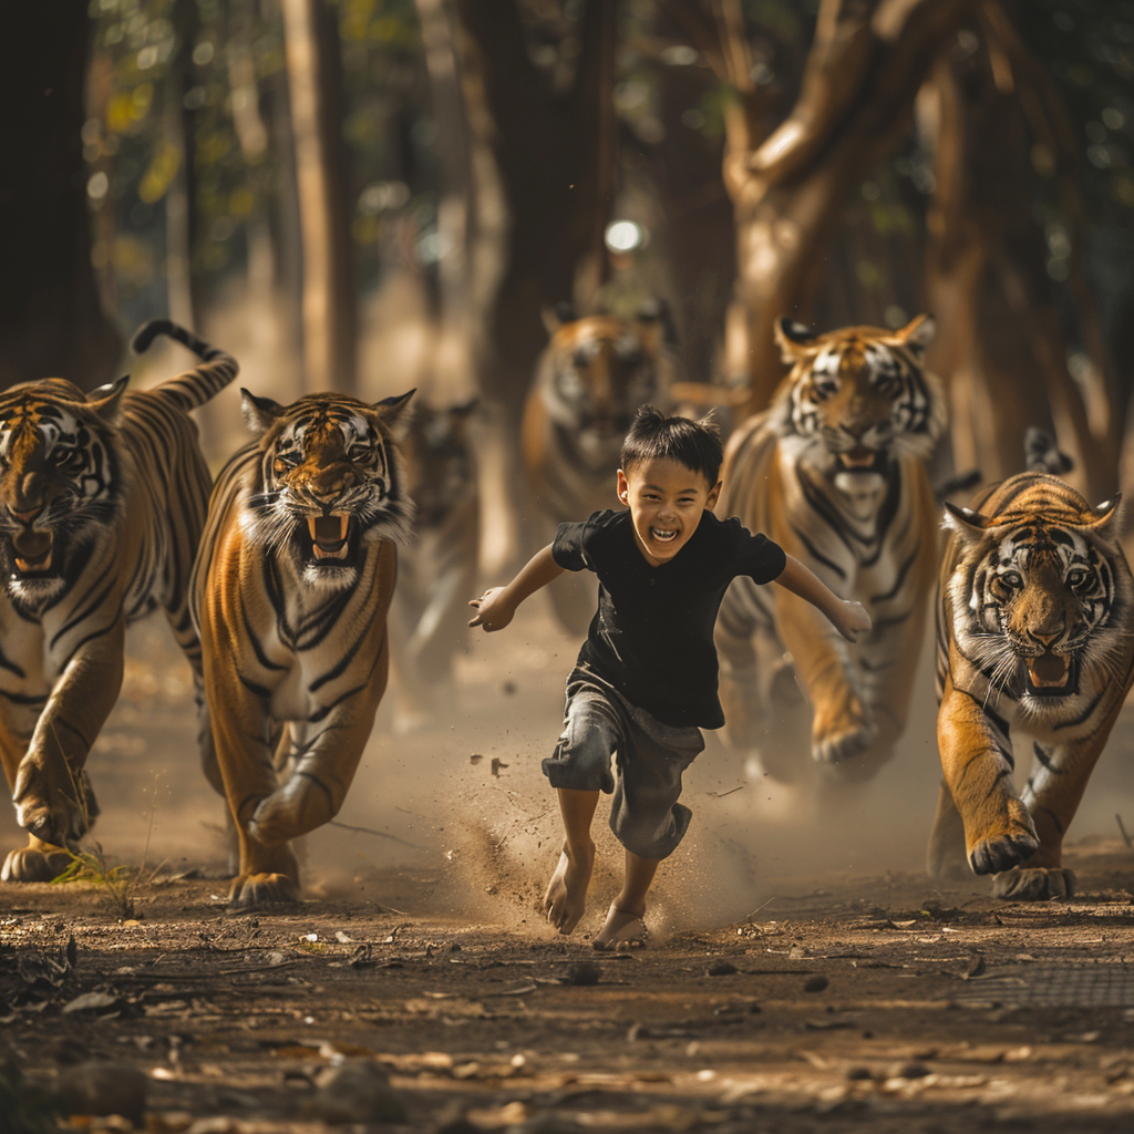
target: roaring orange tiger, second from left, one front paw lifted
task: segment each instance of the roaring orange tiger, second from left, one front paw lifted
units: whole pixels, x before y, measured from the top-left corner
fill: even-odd
[[[338,814],[386,692],[414,513],[395,429],[414,391],[240,393],[256,438],[217,477],[189,610],[236,827],[229,903],[249,907],[297,900],[289,840]]]

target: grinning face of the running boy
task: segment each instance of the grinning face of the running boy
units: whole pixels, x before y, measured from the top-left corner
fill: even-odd
[[[635,542],[654,567],[688,543],[719,494],[720,481],[710,484],[704,473],[676,460],[644,460],[628,474],[618,469],[618,499],[629,506]]]

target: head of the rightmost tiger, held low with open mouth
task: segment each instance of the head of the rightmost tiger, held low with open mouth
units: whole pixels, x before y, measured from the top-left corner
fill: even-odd
[[[1000,491],[998,515],[946,503],[946,527],[962,545],[948,583],[954,635],[993,692],[1050,716],[1120,668],[1134,596],[1118,498],[1092,508],[1038,473]]]

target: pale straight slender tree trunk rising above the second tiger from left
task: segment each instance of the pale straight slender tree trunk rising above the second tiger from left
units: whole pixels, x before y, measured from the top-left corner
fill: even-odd
[[[308,390],[356,390],[357,297],[340,137],[337,8],[280,0],[303,234],[303,361]]]

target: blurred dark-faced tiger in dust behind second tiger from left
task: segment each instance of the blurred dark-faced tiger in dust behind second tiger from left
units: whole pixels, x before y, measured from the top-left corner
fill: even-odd
[[[476,406],[476,398],[446,408],[417,400],[401,441],[416,519],[390,607],[400,731],[451,696],[452,660],[468,632],[465,596],[475,590],[481,523],[467,429]]]

